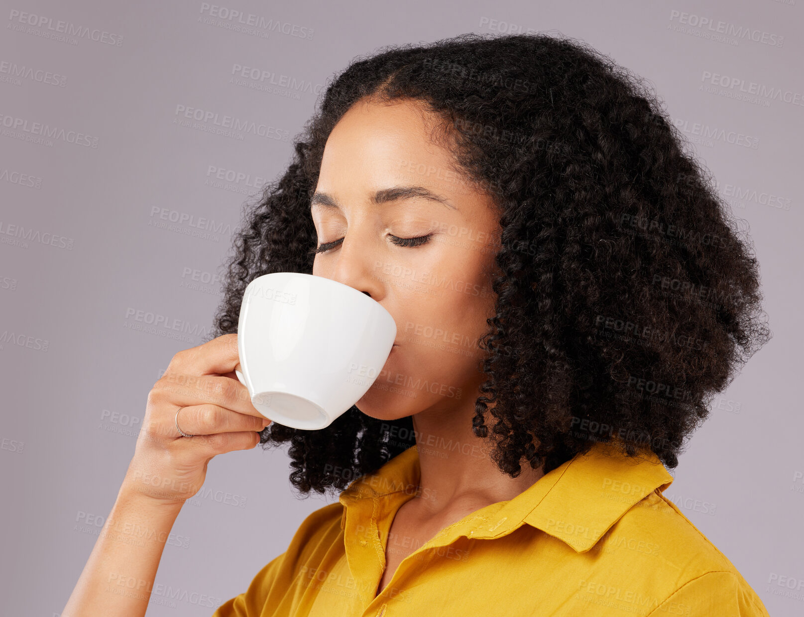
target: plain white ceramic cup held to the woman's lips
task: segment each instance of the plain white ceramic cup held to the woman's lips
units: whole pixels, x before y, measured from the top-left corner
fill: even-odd
[[[273,422],[323,429],[371,388],[396,339],[376,300],[329,278],[295,272],[248,283],[237,326],[252,405]]]

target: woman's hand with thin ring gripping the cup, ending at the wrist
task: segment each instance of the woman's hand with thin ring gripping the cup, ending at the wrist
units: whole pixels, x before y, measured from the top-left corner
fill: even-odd
[[[237,335],[227,334],[178,352],[148,393],[146,415],[123,489],[166,504],[199,492],[207,463],[260,442],[271,422],[237,380]],[[181,409],[178,411],[178,409]],[[193,437],[182,437],[176,429]]]

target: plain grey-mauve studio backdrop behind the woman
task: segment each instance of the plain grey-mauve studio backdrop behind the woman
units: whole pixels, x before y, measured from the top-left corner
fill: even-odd
[[[804,583],[798,592],[788,588],[804,579],[804,421],[795,369],[804,257],[795,181],[804,141],[801,0],[219,5],[273,19],[288,34],[207,23],[203,2],[2,5],[6,615],[55,617],[64,607],[133,455],[150,388],[174,353],[202,343],[211,327],[219,265],[242,204],[284,170],[293,135],[330,76],[389,43],[529,29],[582,39],[649,79],[749,225],[774,338],[716,399],[666,495],[731,559],[771,615],[802,614]],[[14,10],[54,28],[63,20],[106,31],[120,44],[54,39],[47,25],[20,23]],[[716,39],[695,30],[702,18],[732,34]],[[268,76],[237,82],[235,65]],[[724,85],[712,85],[713,74],[726,76]],[[765,96],[745,100],[752,82]],[[188,128],[177,122],[177,105],[271,131],[240,138]],[[15,119],[28,130],[14,132]],[[32,141],[35,122],[85,134],[89,145]],[[758,147],[741,145],[738,135]],[[215,184],[218,169],[248,178]],[[156,316],[167,325],[142,329]],[[178,545],[166,546],[157,582],[215,605],[245,590],[302,518],[329,501],[297,499],[288,473],[283,450],[215,458],[206,496],[188,502],[176,521]],[[206,600],[166,601],[148,614],[213,611]]]

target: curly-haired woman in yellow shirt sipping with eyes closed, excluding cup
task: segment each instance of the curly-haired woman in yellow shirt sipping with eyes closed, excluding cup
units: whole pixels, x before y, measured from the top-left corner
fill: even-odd
[[[212,456],[290,442],[293,485],[338,502],[217,617],[767,615],[662,496],[769,331],[749,241],[638,80],[545,35],[389,47],[295,150],[236,239],[215,339],[150,393],[118,527],[169,532]],[[245,286],[279,271],[396,320],[324,430],[263,426],[234,378]],[[161,549],[105,534],[63,615],[144,614]]]

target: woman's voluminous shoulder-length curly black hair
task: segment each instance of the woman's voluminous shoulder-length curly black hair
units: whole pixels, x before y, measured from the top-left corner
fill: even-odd
[[[312,274],[326,139],[363,97],[437,114],[457,168],[501,212],[473,418],[500,471],[516,477],[525,459],[547,473],[598,441],[676,467],[712,397],[770,338],[757,259],[642,78],[576,39],[472,33],[353,60],[294,139],[287,171],[244,204],[211,335],[236,332],[253,278]],[[272,423],[260,437],[288,441],[290,482],[323,493],[415,434],[410,416],[353,406],[326,429]]]

